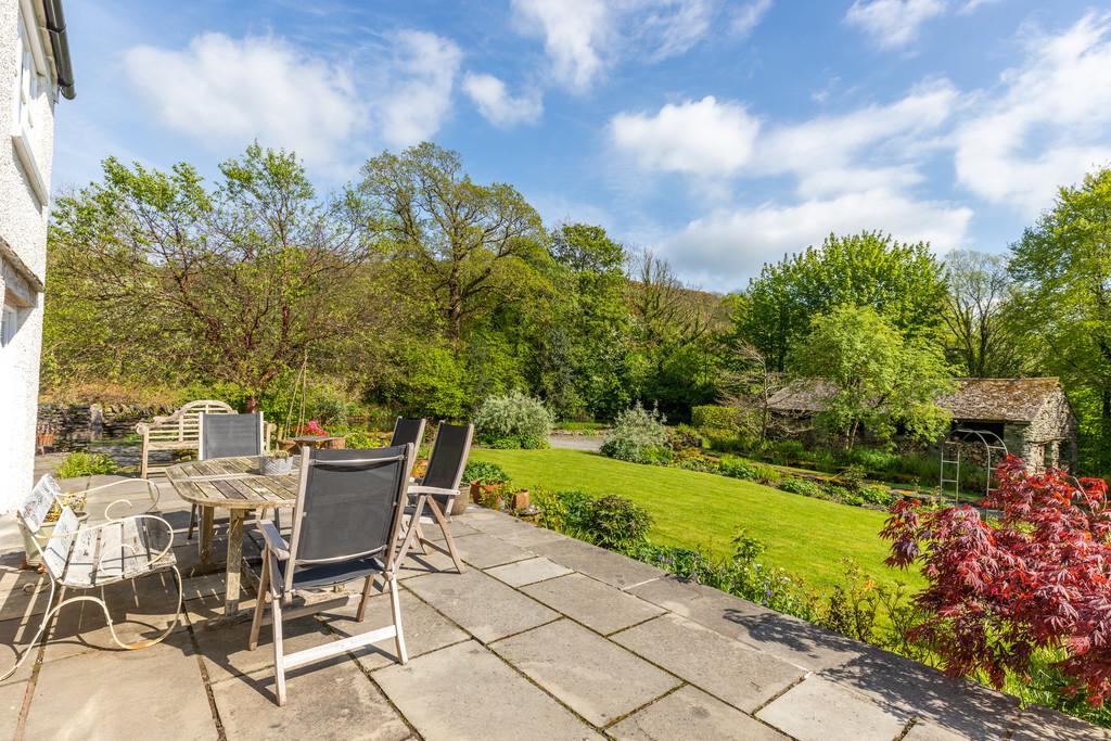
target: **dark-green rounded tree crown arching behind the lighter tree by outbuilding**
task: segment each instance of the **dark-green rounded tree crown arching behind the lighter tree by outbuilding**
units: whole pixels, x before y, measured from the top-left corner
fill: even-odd
[[[909,336],[938,326],[945,286],[941,264],[924,242],[894,241],[881,232],[830,234],[821,247],[765,264],[737,304],[737,333],[777,371],[788,369],[812,317],[837,306],[871,307]]]

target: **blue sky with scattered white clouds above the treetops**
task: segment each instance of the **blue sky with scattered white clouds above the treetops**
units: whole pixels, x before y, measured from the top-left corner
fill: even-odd
[[[1001,251],[1111,164],[1111,6],[1053,0],[69,2],[56,192],[253,139],[321,189],[458,150],[549,224],[743,288],[831,231]]]

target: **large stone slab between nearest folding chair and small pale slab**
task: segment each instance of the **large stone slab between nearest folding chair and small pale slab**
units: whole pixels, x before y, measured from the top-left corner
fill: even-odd
[[[481,571],[416,577],[406,581],[406,588],[483,643],[520,633],[559,617]]]

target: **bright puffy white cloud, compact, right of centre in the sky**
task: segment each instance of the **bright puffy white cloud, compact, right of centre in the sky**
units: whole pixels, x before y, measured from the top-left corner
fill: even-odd
[[[713,96],[668,103],[654,116],[619,113],[610,121],[618,149],[651,170],[698,176],[728,176],[752,156],[760,122],[733,102]]]

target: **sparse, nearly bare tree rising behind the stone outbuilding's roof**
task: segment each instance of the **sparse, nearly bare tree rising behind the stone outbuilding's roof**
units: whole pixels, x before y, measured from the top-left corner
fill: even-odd
[[[950,357],[972,378],[1021,374],[1025,348],[1014,331],[1018,289],[1007,259],[955,251],[945,258],[945,326]]]

